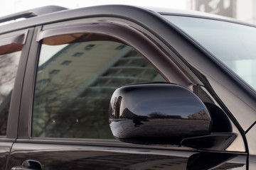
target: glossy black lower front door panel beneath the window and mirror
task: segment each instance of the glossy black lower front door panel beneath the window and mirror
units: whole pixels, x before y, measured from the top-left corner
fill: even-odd
[[[246,169],[246,155],[171,151],[162,148],[95,147],[16,143],[8,169],[27,159],[43,169]],[[27,148],[27,149],[21,149]],[[28,149],[29,148],[29,149]],[[125,151],[124,151],[125,150]],[[49,159],[50,158],[50,159]]]

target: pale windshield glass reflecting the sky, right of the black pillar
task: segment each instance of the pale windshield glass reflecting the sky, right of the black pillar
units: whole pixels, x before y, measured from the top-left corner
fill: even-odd
[[[256,28],[203,18],[164,16],[256,89]]]

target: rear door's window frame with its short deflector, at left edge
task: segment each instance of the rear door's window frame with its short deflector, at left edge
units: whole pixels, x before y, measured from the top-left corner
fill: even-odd
[[[22,96],[23,78],[26,69],[26,61],[28,57],[29,47],[31,45],[31,38],[33,35],[33,28],[17,30],[11,33],[0,35],[0,48],[8,48],[3,50],[1,55],[12,52],[21,52],[18,61],[18,68],[14,80],[14,87],[11,92],[11,103],[9,107],[9,116],[7,120],[6,135],[1,135],[0,140],[15,139],[18,136],[18,117],[20,113],[20,103]]]

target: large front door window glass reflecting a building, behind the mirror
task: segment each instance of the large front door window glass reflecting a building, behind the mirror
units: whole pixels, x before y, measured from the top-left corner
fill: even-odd
[[[124,84],[165,81],[133,47],[114,38],[45,38],[33,102],[33,137],[112,138],[108,110]]]

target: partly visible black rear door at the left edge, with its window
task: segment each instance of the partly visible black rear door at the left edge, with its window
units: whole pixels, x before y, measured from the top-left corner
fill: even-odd
[[[17,137],[19,98],[33,29],[0,35],[0,169]]]

